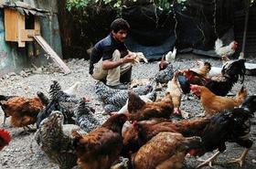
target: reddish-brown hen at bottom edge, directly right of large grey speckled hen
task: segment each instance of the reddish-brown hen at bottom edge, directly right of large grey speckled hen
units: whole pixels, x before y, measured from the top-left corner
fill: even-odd
[[[122,128],[125,114],[112,115],[100,127],[81,135],[73,132],[78,161],[81,168],[109,169],[123,148]]]

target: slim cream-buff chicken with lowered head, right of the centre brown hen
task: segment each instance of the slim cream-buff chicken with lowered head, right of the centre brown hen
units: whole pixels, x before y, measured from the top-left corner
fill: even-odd
[[[181,102],[182,90],[180,89],[179,81],[177,79],[178,74],[179,72],[176,71],[173,79],[167,83],[166,89],[166,91],[169,92],[172,97],[175,114],[181,114],[179,107]]]

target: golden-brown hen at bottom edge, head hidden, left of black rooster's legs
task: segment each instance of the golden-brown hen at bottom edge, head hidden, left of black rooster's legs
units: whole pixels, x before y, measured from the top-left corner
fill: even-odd
[[[185,138],[176,132],[160,132],[133,154],[133,169],[179,169],[190,150],[202,146],[199,137]]]

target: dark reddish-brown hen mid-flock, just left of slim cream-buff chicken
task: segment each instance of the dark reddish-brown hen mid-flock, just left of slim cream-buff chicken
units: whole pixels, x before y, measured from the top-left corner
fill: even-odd
[[[129,121],[143,121],[151,118],[168,119],[174,111],[172,97],[169,92],[156,102],[144,102],[133,91],[128,92]]]

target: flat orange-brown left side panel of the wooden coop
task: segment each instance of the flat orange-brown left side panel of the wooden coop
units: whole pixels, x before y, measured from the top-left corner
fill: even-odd
[[[17,30],[18,13],[16,10],[5,8],[5,40],[17,42],[18,30]]]

